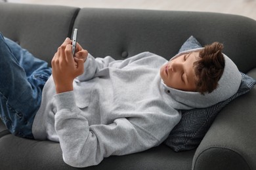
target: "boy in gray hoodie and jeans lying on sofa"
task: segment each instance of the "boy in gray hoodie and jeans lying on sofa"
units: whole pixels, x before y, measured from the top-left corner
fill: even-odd
[[[1,81],[0,92],[1,118],[11,132],[59,142],[64,161],[75,167],[158,146],[181,119],[179,109],[223,101],[241,82],[219,43],[170,61],[150,52],[115,61],[95,59],[79,44],[73,56],[71,42],[58,48],[50,76],[43,61],[1,37],[0,78],[9,80]],[[40,69],[23,64],[28,58]],[[30,96],[23,98],[22,90]]]

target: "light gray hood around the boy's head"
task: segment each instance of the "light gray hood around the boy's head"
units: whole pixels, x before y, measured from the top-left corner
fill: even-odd
[[[176,56],[171,58],[171,60],[181,56],[182,54],[196,52],[202,49],[203,48],[195,48],[193,50],[186,50],[177,54]],[[211,93],[205,93],[204,95],[202,95],[199,92],[185,92],[182,90],[169,88],[164,84],[163,81],[161,81],[161,83],[169,91],[169,95],[171,95],[171,98],[176,101],[174,106],[175,109],[209,107],[211,105],[215,105],[216,103],[228,99],[238,91],[242,80],[241,73],[238,70],[238,67],[236,67],[235,63],[230,58],[228,58],[225,54],[223,54],[223,56],[225,62],[223,75],[219,80],[219,86]]]

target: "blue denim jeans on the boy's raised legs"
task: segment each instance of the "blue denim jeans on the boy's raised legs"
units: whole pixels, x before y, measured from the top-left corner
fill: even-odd
[[[0,33],[0,118],[12,134],[33,139],[33,119],[50,75],[47,62]]]

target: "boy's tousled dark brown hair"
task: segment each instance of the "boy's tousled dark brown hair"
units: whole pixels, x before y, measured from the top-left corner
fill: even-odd
[[[197,92],[211,93],[218,87],[225,65],[223,47],[223,44],[213,42],[200,51],[200,59],[194,63]]]

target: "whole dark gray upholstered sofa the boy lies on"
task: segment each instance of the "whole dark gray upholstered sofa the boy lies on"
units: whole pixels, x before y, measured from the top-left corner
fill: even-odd
[[[202,44],[223,42],[240,71],[256,78],[256,21],[242,16],[13,3],[0,3],[0,16],[5,37],[49,64],[77,27],[78,42],[95,57],[125,59],[150,51],[169,59],[190,35]],[[194,150],[174,152],[161,144],[85,169],[256,169],[255,103],[256,88],[229,103]],[[60,144],[15,137],[0,121],[0,169],[75,168],[62,160]]]

